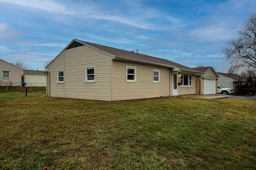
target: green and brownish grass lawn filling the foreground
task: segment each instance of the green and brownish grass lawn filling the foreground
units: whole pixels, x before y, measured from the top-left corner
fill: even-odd
[[[0,92],[0,169],[256,169],[256,102]]]

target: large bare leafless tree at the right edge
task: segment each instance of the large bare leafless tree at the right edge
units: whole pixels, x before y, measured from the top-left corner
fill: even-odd
[[[226,60],[232,64],[230,73],[255,70],[256,68],[256,13],[251,13],[238,31],[239,38],[227,42],[222,50]],[[255,73],[254,73],[255,75]]]

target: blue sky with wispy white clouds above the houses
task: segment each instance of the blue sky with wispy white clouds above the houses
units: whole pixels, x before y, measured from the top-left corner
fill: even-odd
[[[0,59],[44,70],[80,39],[227,72],[222,49],[256,0],[0,0]]]

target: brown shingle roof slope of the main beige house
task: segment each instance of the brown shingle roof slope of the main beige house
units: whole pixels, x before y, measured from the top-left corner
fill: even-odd
[[[181,70],[188,70],[188,71],[192,71],[192,72],[198,72],[198,70],[196,70],[194,68],[190,68],[190,67],[184,66],[182,64],[174,63],[174,62],[166,60],[166,59],[152,57],[152,56],[149,56],[149,55],[143,55],[143,54],[140,54],[140,53],[134,53],[134,52],[131,52],[131,51],[125,51],[125,50],[122,50],[122,49],[116,49],[116,48],[113,48],[113,47],[107,47],[107,46],[104,46],[104,45],[94,44],[94,43],[81,41],[81,40],[77,40],[77,39],[74,39],[74,41],[79,41],[79,42],[82,42],[84,44],[90,45],[90,46],[92,46],[96,49],[99,49],[101,51],[104,51],[106,53],[114,55],[117,58],[118,57],[123,57],[123,58],[130,59],[130,60],[138,60],[138,61],[145,61],[145,62],[150,62],[150,63],[155,63],[155,64],[162,64],[162,65],[166,65],[166,66],[170,66],[170,67],[177,67],[177,68],[180,68]]]

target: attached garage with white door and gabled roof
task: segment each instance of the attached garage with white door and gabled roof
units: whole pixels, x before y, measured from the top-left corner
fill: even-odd
[[[218,93],[218,74],[210,67],[194,68],[203,74],[196,74],[196,94],[216,94]]]

